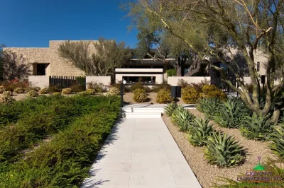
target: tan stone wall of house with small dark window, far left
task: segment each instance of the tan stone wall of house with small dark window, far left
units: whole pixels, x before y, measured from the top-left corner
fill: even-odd
[[[84,71],[77,69],[70,62],[58,55],[59,45],[63,40],[50,40],[49,47],[5,47],[4,52],[22,54],[29,64],[33,75],[37,74],[37,64],[45,64],[46,76],[84,76]]]

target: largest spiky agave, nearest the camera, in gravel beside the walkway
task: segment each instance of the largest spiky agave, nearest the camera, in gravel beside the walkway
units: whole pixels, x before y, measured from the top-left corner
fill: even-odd
[[[243,163],[246,152],[233,137],[214,132],[206,141],[204,156],[212,165],[230,167]]]

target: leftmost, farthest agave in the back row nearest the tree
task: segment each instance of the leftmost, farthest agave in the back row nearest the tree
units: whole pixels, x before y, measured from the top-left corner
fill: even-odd
[[[217,98],[202,98],[198,101],[197,110],[203,112],[209,119],[212,119],[217,112],[221,100]]]

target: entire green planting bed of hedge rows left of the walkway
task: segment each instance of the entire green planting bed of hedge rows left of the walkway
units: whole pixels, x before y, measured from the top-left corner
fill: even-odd
[[[119,104],[117,96],[75,95],[0,105],[0,187],[79,187]]]

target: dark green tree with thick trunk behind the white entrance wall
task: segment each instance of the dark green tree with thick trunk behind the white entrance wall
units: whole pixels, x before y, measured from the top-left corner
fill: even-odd
[[[158,25],[151,25],[147,19],[138,18],[136,22],[138,43],[135,53],[138,58],[142,59],[147,55],[154,61],[169,64],[175,67],[177,76],[193,76],[200,71],[204,60],[202,61],[197,53],[192,52],[180,38],[161,30]],[[156,49],[155,54],[151,53],[152,48]],[[190,68],[185,74],[186,62]]]

